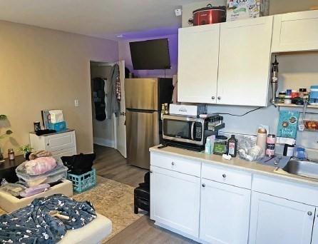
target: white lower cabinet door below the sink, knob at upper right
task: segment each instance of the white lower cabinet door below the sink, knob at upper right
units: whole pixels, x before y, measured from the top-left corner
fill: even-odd
[[[310,244],[315,208],[252,192],[250,244]]]

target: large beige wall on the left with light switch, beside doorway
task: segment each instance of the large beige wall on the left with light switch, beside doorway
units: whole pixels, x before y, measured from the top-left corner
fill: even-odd
[[[14,131],[0,147],[21,153],[41,110],[61,108],[67,126],[76,130],[78,153],[91,153],[90,60],[117,61],[117,42],[6,21],[0,30],[0,113]],[[7,127],[2,122],[0,133]]]

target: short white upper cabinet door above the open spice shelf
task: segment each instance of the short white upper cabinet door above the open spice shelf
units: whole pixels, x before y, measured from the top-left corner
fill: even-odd
[[[274,17],[272,52],[318,50],[318,10]]]

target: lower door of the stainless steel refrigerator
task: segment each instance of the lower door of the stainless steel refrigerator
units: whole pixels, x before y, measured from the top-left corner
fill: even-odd
[[[150,168],[149,148],[159,144],[158,112],[126,109],[127,162]]]

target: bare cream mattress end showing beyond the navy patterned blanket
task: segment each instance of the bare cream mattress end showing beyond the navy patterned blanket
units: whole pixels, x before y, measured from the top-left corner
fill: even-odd
[[[97,213],[97,218],[88,225],[77,230],[68,230],[64,238],[58,244],[95,244],[101,243],[111,234],[111,220]]]

